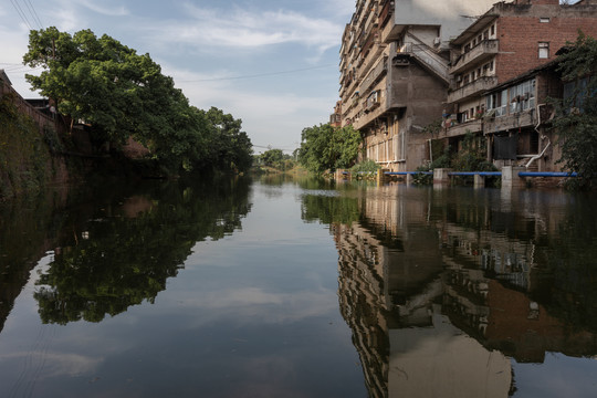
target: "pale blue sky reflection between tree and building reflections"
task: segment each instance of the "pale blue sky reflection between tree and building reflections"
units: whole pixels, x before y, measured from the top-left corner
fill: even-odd
[[[301,221],[297,188],[255,188],[242,231],[197,243],[154,305],[40,325],[30,282],[0,335],[0,396],[365,396],[329,232]]]

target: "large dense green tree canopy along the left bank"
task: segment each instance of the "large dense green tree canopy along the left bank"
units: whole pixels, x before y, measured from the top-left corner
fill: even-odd
[[[240,132],[240,119],[190,106],[149,54],[137,54],[106,34],[32,30],[23,62],[43,67],[27,80],[53,100],[61,114],[85,121],[94,134],[115,144],[135,138],[170,170],[213,160],[213,166],[235,169],[251,165],[252,145]]]

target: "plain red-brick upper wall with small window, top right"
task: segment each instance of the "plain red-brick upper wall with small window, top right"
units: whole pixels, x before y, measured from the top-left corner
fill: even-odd
[[[500,54],[495,66],[500,83],[554,60],[561,48],[576,41],[578,30],[597,36],[597,6],[537,6],[548,2],[504,7],[505,14],[498,21]],[[549,22],[541,22],[541,18],[549,18]],[[549,43],[549,57],[538,57],[540,42]]]

